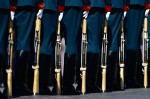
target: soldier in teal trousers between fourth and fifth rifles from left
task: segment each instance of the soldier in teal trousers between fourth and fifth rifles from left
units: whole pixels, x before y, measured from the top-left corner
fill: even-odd
[[[87,93],[100,92],[96,85],[97,67],[100,61],[101,36],[103,33],[105,0],[91,0],[91,10],[87,18]],[[98,82],[100,83],[100,82]]]

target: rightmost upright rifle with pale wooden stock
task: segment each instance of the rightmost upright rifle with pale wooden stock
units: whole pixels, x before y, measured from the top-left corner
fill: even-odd
[[[143,32],[143,53],[142,66],[144,67],[144,87],[148,86],[147,67],[148,67],[148,32],[147,32],[147,18],[144,18],[144,32]]]

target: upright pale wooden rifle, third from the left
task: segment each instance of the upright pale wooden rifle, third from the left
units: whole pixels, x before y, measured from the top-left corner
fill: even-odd
[[[57,27],[57,39],[55,46],[55,72],[56,72],[56,90],[57,95],[61,95],[61,36],[60,36],[60,21]]]

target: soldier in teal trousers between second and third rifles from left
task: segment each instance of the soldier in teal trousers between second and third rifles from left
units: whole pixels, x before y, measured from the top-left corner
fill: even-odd
[[[52,94],[51,90],[48,88],[50,67],[52,68],[52,54],[54,50],[54,42],[56,40],[58,15],[64,10],[64,0],[45,0],[44,3],[45,6],[42,17],[41,48],[39,61],[39,94],[50,95]],[[53,86],[53,94],[55,94],[55,90],[55,86]]]

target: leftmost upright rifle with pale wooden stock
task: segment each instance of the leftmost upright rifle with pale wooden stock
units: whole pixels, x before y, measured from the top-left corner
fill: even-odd
[[[7,96],[12,97],[12,56],[13,56],[13,20],[9,21],[9,36],[8,36],[8,69],[7,72]]]

